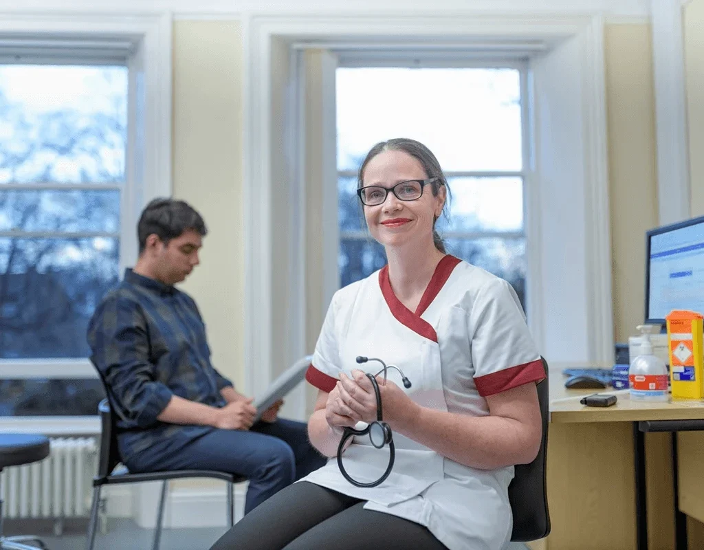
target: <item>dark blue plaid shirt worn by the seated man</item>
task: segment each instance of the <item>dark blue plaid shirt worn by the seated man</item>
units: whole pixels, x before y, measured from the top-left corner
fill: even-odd
[[[171,396],[221,407],[232,382],[210,363],[206,326],[188,294],[125,270],[88,325],[91,361],[110,392],[122,461],[150,449],[177,452],[208,426],[162,423]]]

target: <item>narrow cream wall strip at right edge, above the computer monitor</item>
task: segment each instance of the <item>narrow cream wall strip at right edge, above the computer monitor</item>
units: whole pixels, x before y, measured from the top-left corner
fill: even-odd
[[[704,215],[704,0],[684,6],[691,215]]]

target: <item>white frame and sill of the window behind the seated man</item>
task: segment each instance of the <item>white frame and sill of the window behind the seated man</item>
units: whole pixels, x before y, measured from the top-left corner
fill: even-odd
[[[172,194],[171,30],[169,14],[135,14],[131,18],[84,14],[42,20],[27,15],[0,21],[0,46],[6,52],[0,56],[0,63],[100,65],[121,61],[119,64],[127,66],[127,151],[122,185],[10,184],[0,187],[0,190],[119,187],[120,278],[125,266],[137,260],[135,228],[139,212],[154,197]],[[18,35],[22,38],[17,38]],[[15,56],[20,56],[20,60]],[[13,236],[18,235],[13,232]],[[11,379],[98,377],[88,358],[1,359],[0,372],[4,378]],[[32,425],[51,424],[52,419],[56,419],[57,426],[76,425],[80,428],[76,422],[80,424],[82,418],[6,417],[0,420],[0,429],[15,423],[27,423],[27,429],[31,431]],[[94,418],[87,418],[91,419],[93,426]],[[82,432],[79,430],[78,433]]]

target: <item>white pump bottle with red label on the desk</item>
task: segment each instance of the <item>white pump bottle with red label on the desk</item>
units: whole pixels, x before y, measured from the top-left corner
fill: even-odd
[[[650,326],[640,325],[641,354],[631,361],[628,370],[631,399],[634,401],[667,401],[670,376],[665,362],[653,354],[650,343]]]

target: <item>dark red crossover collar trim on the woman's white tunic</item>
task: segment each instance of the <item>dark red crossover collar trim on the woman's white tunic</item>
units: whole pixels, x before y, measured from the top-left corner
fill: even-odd
[[[450,277],[453,269],[460,261],[461,260],[458,258],[450,256],[449,254],[439,261],[425,292],[423,292],[415,313],[410,311],[410,309],[401,303],[401,300],[396,298],[394,289],[391,288],[391,281],[389,281],[389,265],[384,265],[379,271],[379,287],[382,289],[384,300],[386,300],[386,305],[389,306],[389,310],[391,310],[391,315],[394,315],[394,318],[396,318],[401,325],[405,325],[418,335],[432,340],[433,342],[437,342],[438,336],[435,329],[425,319],[421,318],[420,315],[432,304],[435,296],[438,295],[443,285]]]

